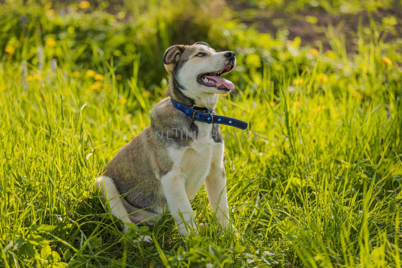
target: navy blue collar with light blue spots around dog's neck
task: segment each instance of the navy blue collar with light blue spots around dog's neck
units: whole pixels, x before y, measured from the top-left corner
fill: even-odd
[[[191,117],[191,119],[196,120],[196,121],[201,121],[204,123],[208,124],[222,124],[222,125],[228,125],[232,127],[237,127],[239,129],[246,129],[247,128],[247,123],[232,117],[225,117],[222,115],[213,115],[212,114],[212,109],[206,109],[205,110],[195,110],[194,108],[191,108],[187,106],[186,104],[183,104],[177,100],[173,100],[170,98],[170,101],[172,102],[173,106],[176,107],[177,110],[180,112],[184,113],[188,117]],[[197,107],[199,108],[199,107]]]

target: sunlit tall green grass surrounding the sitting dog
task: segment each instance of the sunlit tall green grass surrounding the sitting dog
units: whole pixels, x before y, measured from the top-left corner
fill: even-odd
[[[2,5],[0,266],[401,267],[402,55],[400,43],[377,38],[376,25],[361,28],[357,53],[347,57],[330,31],[332,51],[317,54],[226,13],[194,16],[189,40],[238,56],[236,92],[220,97],[217,113],[260,135],[225,141],[239,235],[219,227],[203,187],[191,201],[196,221],[207,223],[200,235],[180,236],[166,216],[149,230],[155,243],[144,245],[131,240],[137,230],[121,233],[94,178],[150,124],[167,86],[163,51],[183,38],[181,26],[154,3],[149,13],[128,5],[127,14],[142,14],[135,21],[115,20],[103,7],[84,13],[75,4],[53,17],[33,2]],[[21,14],[26,24],[13,27]],[[87,27],[68,30],[80,19]],[[105,44],[103,34],[115,42]],[[15,51],[4,52],[7,45]]]

